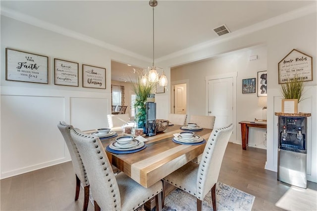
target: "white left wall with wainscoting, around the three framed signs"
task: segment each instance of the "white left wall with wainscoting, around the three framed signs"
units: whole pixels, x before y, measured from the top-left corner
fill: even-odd
[[[111,59],[136,66],[149,64],[5,16],[0,26],[1,179],[70,160],[58,121],[81,130],[107,127]],[[5,48],[49,56],[49,84],[6,81]],[[53,58],[79,63],[79,87],[54,85]],[[106,68],[106,89],[82,87],[83,63]],[[168,68],[165,72],[169,74]],[[168,94],[160,94],[159,100],[169,102]],[[159,113],[167,111],[168,107],[158,107]]]

